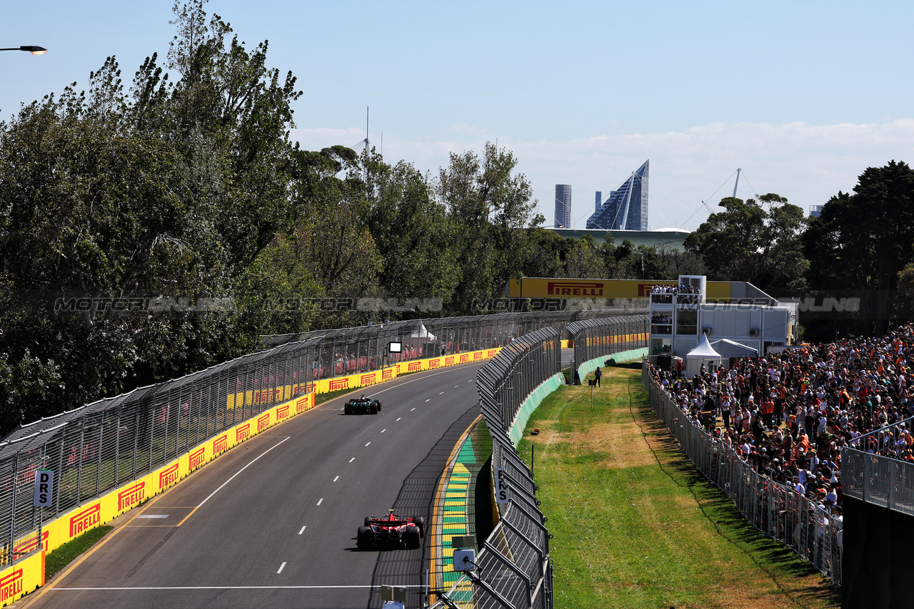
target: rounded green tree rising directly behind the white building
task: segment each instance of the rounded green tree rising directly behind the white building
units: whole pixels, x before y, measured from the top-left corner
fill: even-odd
[[[809,263],[802,254],[802,208],[771,193],[758,201],[727,197],[719,205],[724,211],[708,216],[683,244],[702,258],[708,278],[761,289],[803,287]]]

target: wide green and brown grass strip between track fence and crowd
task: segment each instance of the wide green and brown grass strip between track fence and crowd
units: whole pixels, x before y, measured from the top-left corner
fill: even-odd
[[[536,449],[556,606],[840,606],[839,588],[697,472],[654,415],[640,367],[606,368],[602,385],[592,409],[586,385],[559,388],[517,447],[526,459]]]

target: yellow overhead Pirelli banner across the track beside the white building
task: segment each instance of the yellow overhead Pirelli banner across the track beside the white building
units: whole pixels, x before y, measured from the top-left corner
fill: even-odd
[[[675,286],[676,281],[658,279],[579,279],[525,277],[508,281],[513,299],[647,299],[654,286]],[[708,300],[729,299],[729,281],[708,281]]]

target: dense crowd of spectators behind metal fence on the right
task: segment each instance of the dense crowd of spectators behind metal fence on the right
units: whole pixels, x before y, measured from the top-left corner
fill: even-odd
[[[760,474],[840,519],[841,448],[914,462],[909,387],[914,326],[878,338],[802,346],[692,379],[653,369],[684,416],[732,446]],[[869,432],[876,432],[872,435]]]

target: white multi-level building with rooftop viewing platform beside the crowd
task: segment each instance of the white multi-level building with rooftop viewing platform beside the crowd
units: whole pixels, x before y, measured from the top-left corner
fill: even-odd
[[[707,301],[705,276],[682,275],[674,291],[652,291],[650,354],[678,357],[707,334],[726,357],[764,354],[797,339],[795,302],[779,302],[745,281],[730,284],[728,299]]]

